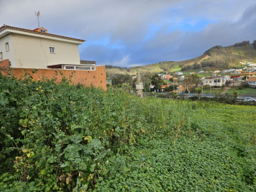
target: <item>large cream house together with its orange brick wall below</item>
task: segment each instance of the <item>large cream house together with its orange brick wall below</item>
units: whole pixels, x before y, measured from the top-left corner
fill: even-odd
[[[22,75],[24,68],[36,69],[36,78],[42,73],[51,78],[56,70],[61,70],[67,78],[73,76],[74,84],[95,85],[106,90],[105,66],[96,66],[95,61],[80,61],[78,46],[83,42],[85,40],[48,33],[43,27],[30,30],[1,26],[0,68],[5,65],[14,75]],[[7,65],[6,60],[9,60]]]

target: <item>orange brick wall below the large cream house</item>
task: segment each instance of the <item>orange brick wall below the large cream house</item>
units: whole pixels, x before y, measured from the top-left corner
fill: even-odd
[[[68,80],[72,80],[74,85],[80,83],[85,86],[101,87],[107,90],[106,68],[103,66],[96,66],[96,70],[59,70],[59,69],[24,69],[24,68],[9,68],[9,60],[0,62],[1,72],[6,75],[7,71],[17,78],[25,73],[31,74],[33,79],[42,80],[43,78],[56,78],[56,82],[65,76]],[[36,72],[35,72],[36,71]],[[35,73],[32,73],[35,72]],[[56,75],[58,73],[58,75]],[[62,73],[63,75],[60,75]]]

